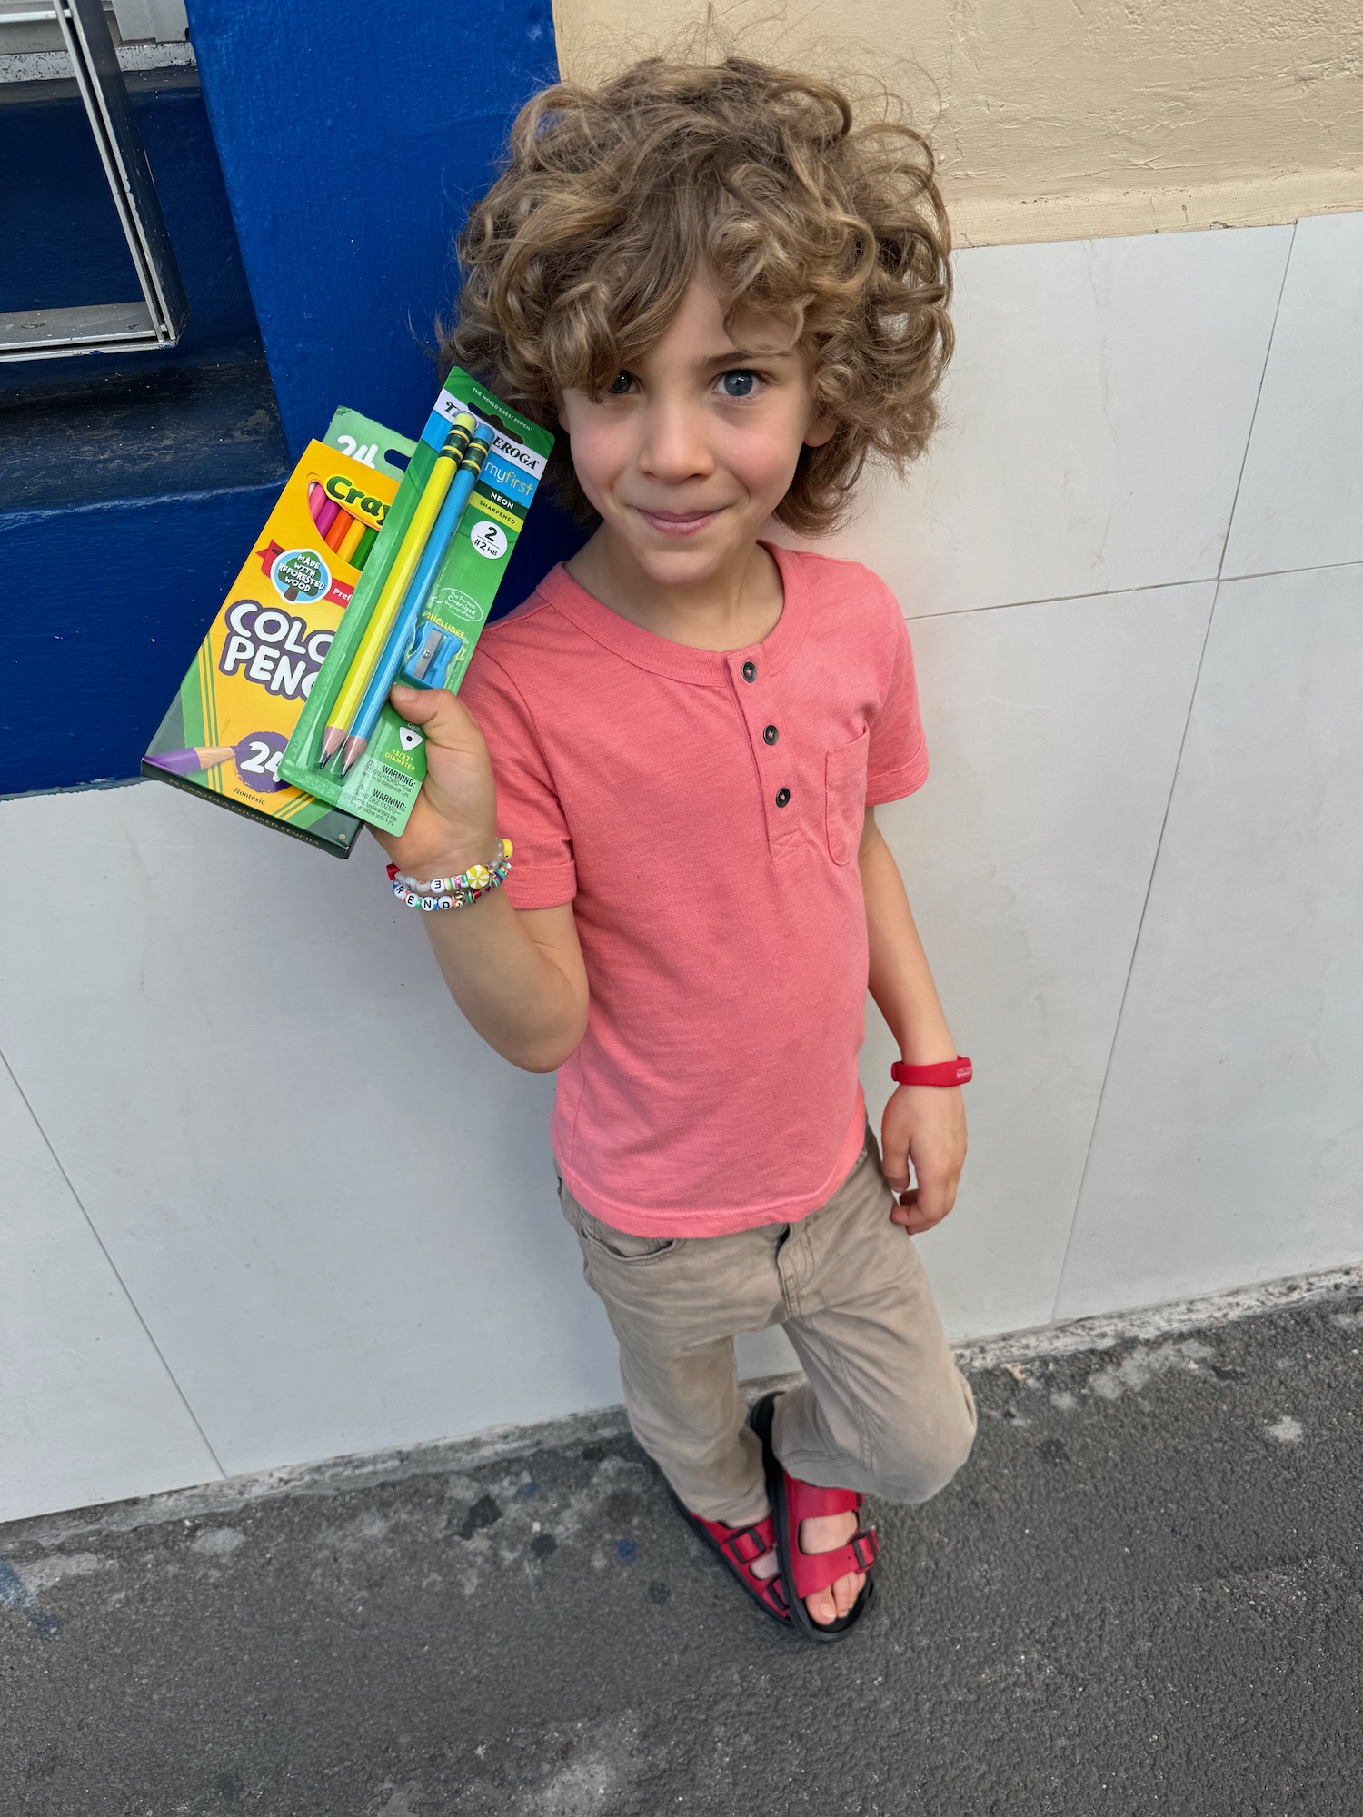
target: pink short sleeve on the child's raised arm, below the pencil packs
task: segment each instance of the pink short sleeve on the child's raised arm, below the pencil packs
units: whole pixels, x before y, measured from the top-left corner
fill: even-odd
[[[496,658],[474,650],[460,700],[487,740],[496,778],[496,823],[511,839],[505,881],[514,908],[558,908],[578,892],[563,805],[516,683]]]

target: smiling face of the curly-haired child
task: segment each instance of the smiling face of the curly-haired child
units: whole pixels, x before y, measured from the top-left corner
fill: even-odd
[[[567,391],[560,416],[598,534],[663,587],[703,585],[745,556],[801,445],[836,427],[814,409],[814,362],[789,325],[740,314],[731,336],[705,278],[607,396]]]

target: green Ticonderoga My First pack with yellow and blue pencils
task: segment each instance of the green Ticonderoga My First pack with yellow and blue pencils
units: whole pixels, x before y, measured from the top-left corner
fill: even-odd
[[[403,830],[425,741],[389,689],[458,692],[552,445],[549,431],[451,371],[298,716],[285,781]]]

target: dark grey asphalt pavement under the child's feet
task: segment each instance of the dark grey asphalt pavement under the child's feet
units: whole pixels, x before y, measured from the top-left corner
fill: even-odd
[[[972,1375],[845,1644],[618,1415],[0,1528],[2,1817],[1359,1817],[1363,1292]]]

